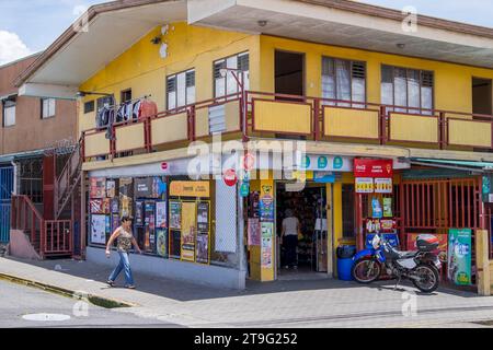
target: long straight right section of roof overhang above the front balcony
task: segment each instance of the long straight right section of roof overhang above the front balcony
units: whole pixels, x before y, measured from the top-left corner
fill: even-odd
[[[420,15],[417,31],[409,33],[404,19],[398,11],[356,1],[188,1],[192,24],[493,68],[492,28]]]

